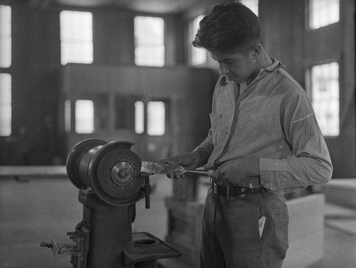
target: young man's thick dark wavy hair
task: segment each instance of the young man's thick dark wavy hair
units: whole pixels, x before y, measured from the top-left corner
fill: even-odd
[[[241,3],[215,6],[199,23],[192,44],[206,50],[232,52],[243,45],[261,41],[261,22]]]

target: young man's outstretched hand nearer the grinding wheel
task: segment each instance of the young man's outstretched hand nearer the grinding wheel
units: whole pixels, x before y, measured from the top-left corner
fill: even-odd
[[[162,159],[159,162],[165,164],[180,165],[187,169],[195,169],[206,163],[206,161],[207,155],[204,152],[193,151],[192,153],[183,153],[178,154],[177,156],[171,156],[167,159]],[[167,177],[184,178],[184,174],[182,176],[173,176],[172,174],[167,174]]]

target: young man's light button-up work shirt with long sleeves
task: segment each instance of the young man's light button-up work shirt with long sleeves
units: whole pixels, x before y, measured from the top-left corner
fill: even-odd
[[[241,157],[258,158],[260,177],[237,180],[242,187],[262,186],[283,194],[326,183],[333,166],[308,96],[271,59],[272,65],[261,69],[250,85],[219,78],[211,129],[195,150],[209,155],[207,169],[234,165]]]

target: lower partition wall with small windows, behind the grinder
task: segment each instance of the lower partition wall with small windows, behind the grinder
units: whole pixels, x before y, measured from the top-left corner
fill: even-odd
[[[100,75],[98,75],[100,74]],[[192,151],[206,136],[209,129],[211,93],[216,77],[209,69],[171,66],[166,68],[125,66],[66,65],[61,73],[61,133],[66,136],[66,153],[83,139],[98,138],[105,141],[127,140],[144,160],[157,161],[169,155]],[[93,134],[63,132],[63,103],[78,99],[94,100],[98,94],[108,100],[108,125]],[[115,127],[116,97],[124,100],[135,96],[137,100],[167,101],[167,126],[164,136],[136,134],[134,129]],[[127,103],[129,104],[129,103]],[[129,104],[130,105],[130,104]],[[132,103],[133,108],[133,103]],[[132,114],[120,113],[121,120],[132,120]],[[122,118],[123,117],[123,118]],[[72,120],[73,122],[74,120]],[[199,127],[197,127],[199,126]]]

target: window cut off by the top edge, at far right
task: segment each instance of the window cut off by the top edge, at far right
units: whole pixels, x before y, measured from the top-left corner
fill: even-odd
[[[340,0],[309,0],[309,28],[311,30],[339,21]]]

